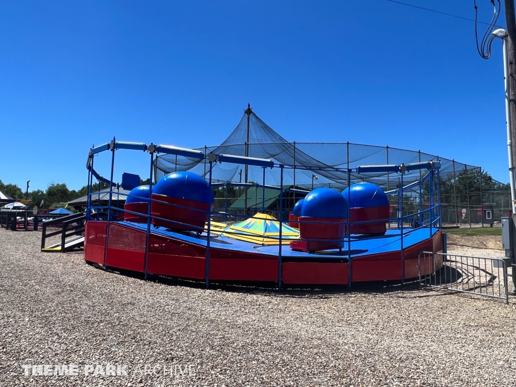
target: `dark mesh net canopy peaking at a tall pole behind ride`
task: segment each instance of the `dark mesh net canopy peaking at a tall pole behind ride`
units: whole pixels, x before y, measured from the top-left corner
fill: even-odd
[[[197,148],[205,154],[231,154],[258,158],[270,158],[277,163],[288,166],[284,169],[283,185],[296,188],[311,189],[331,187],[344,189],[348,185],[347,169],[365,165],[409,164],[440,160],[441,178],[464,170],[479,169],[455,160],[442,158],[421,151],[409,151],[391,147],[378,147],[349,142],[314,143],[289,142],[272,130],[254,112],[244,113],[240,122],[230,136],[215,147]],[[249,141],[247,141],[249,138]],[[156,180],[174,171],[190,171],[208,178],[209,162],[183,156],[158,156],[154,162]],[[312,168],[312,170],[311,170]],[[324,168],[324,169],[320,169]],[[404,186],[421,179],[426,171],[415,170],[404,174]],[[265,184],[280,185],[280,169],[267,170]],[[351,173],[351,184],[371,182],[384,190],[396,188],[399,175],[397,173]],[[245,166],[221,163],[213,166],[214,182],[245,183]],[[247,182],[263,182],[263,168],[248,166]]]

